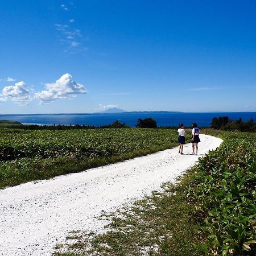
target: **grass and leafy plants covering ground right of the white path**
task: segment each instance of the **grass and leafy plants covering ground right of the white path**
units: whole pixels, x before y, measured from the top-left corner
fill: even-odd
[[[224,143],[179,183],[102,216],[104,234],[71,232],[55,255],[256,255],[256,134],[204,132]]]

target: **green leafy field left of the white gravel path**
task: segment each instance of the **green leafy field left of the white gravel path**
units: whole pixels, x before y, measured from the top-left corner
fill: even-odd
[[[0,128],[0,188],[79,172],[177,146],[170,129]]]

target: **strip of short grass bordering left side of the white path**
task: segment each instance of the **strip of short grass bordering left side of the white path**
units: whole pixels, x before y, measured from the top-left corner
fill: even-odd
[[[19,185],[28,181],[50,179],[55,176],[81,172],[88,170],[89,168],[122,162],[124,160],[153,154],[176,146],[177,143],[168,143],[162,146],[152,146],[147,150],[134,150],[125,154],[113,155],[105,158],[88,158],[82,160],[63,157],[59,159],[38,159],[38,162],[36,163],[35,159],[18,159],[16,163],[14,163],[15,168],[17,170],[19,169],[18,172],[13,172],[12,175],[1,173],[0,189]],[[32,168],[30,167],[30,164]],[[24,168],[24,165],[30,168]]]

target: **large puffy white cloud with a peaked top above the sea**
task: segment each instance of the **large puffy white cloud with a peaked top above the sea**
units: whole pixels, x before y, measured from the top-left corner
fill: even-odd
[[[40,104],[50,103],[61,98],[75,98],[76,94],[84,94],[84,85],[77,84],[72,80],[72,76],[65,74],[52,84],[46,84],[46,90],[35,93],[35,98],[40,100]]]

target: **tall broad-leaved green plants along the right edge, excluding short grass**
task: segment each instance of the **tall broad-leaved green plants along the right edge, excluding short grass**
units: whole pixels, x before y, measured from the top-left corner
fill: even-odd
[[[207,255],[256,255],[256,135],[224,133],[187,186]]]

